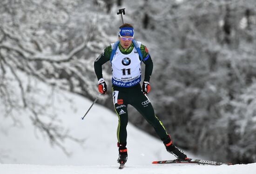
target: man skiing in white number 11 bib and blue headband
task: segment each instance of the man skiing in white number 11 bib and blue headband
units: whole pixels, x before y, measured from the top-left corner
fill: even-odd
[[[95,60],[94,70],[98,78],[98,88],[101,94],[107,92],[107,85],[102,77],[102,64],[110,61],[112,66],[112,92],[115,112],[119,118],[117,127],[117,146],[119,157],[117,162],[127,161],[127,130],[128,104],[135,107],[151,124],[161,138],[167,151],[178,159],[187,160],[187,155],[176,148],[162,122],[155,116],[154,109],[146,96],[150,91],[149,79],[153,71],[153,62],[148,49],[141,42],[134,40],[134,28],[130,24],[119,27],[119,41],[105,48]],[[145,77],[141,90],[141,62],[145,64]]]

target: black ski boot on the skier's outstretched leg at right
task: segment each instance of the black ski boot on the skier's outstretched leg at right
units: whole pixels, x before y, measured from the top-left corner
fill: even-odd
[[[168,142],[168,143],[164,142],[166,150],[169,153],[171,153],[172,155],[175,155],[175,157],[180,159],[180,160],[189,160],[187,155],[182,150],[180,150],[175,145],[173,145],[172,140],[171,140],[171,136],[170,135],[168,135],[168,136],[169,136],[168,140],[165,141],[165,142]]]

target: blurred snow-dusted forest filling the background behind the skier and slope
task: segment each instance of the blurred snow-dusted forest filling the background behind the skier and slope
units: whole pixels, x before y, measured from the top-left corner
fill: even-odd
[[[211,160],[255,162],[255,0],[1,0],[1,114],[16,125],[27,110],[60,148],[60,139],[78,141],[56,129],[35,84],[52,86],[49,100],[59,89],[94,100],[94,60],[118,39],[119,8],[153,59],[148,97],[175,143]],[[110,63],[103,77],[108,94],[98,103],[113,110]],[[155,135],[128,109],[130,122]]]

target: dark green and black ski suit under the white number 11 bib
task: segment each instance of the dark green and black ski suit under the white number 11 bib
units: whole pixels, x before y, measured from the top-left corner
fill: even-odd
[[[133,62],[133,59],[135,58],[133,54],[137,53],[135,52],[133,43],[130,45],[128,49],[122,48],[122,46],[119,43],[118,49],[122,54],[125,55],[125,58],[124,58],[126,59],[125,61],[129,60]],[[149,82],[150,76],[153,71],[153,62],[148,53],[146,46],[140,45],[140,50],[143,57],[143,63],[145,64],[144,81]],[[101,53],[101,55],[94,62],[94,70],[98,80],[102,78],[102,64],[105,64],[110,60],[111,52],[112,52],[112,46],[110,45],[105,48],[104,52]],[[145,58],[147,58],[147,60],[144,60]],[[116,60],[116,61],[121,62],[122,60],[123,59]],[[112,61],[112,77],[113,77],[113,71],[114,70],[113,70],[113,61]],[[115,70],[115,71],[123,71],[124,76],[126,75],[126,73],[129,73],[129,71],[126,71],[124,69]],[[131,69],[130,71],[133,71],[133,70]],[[169,141],[168,134],[164,126],[162,125],[162,122],[157,118],[157,116],[155,116],[155,111],[148,97],[142,93],[140,83],[135,84],[131,87],[121,87],[113,84],[113,79],[112,79],[112,92],[113,92],[115,112],[119,118],[119,123],[117,128],[118,143],[126,144],[127,142],[126,126],[128,124],[128,111],[127,111],[128,104],[135,107],[135,109],[138,110],[141,113],[141,115],[154,127],[157,135],[161,138],[163,142]]]

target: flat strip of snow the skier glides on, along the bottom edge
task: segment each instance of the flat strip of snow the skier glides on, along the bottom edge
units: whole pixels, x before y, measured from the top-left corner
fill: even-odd
[[[209,165],[148,165],[126,166],[43,166],[0,164],[0,174],[249,174],[256,171],[256,163],[234,166]]]

